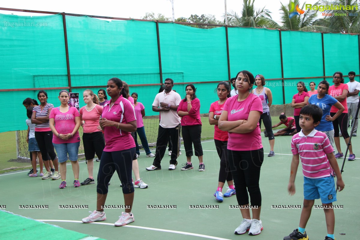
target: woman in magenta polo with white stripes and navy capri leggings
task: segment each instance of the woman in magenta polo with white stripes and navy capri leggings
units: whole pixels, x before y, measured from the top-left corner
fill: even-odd
[[[107,83],[106,91],[111,100],[105,103],[99,121],[105,133],[105,148],[99,166],[96,210],[90,216],[83,218],[82,222],[106,220],[104,205],[108,194],[108,182],[116,171],[122,183],[124,203],[129,207],[122,212],[114,225],[124,226],[134,222],[134,215],[131,213],[134,201],[131,167],[135,141],[130,133],[136,130],[136,117],[134,108],[126,99],[127,96],[119,78],[111,78]]]

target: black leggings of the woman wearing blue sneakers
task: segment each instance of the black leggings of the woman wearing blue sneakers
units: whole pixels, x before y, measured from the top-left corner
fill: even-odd
[[[228,141],[214,139],[214,142],[217,155],[220,158],[219,182],[232,181],[233,175],[231,175],[228,161]]]

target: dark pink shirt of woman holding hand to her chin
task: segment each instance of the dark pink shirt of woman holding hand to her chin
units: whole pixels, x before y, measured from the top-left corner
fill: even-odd
[[[189,115],[185,115],[181,117],[181,126],[194,126],[194,125],[202,125],[200,118],[200,100],[198,98],[194,98],[191,100],[191,110]],[[177,112],[183,111],[188,112],[188,102],[181,100],[179,103],[179,107],[177,108]]]

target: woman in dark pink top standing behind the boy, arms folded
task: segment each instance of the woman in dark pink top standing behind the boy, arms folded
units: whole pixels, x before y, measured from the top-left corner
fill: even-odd
[[[297,86],[297,90],[299,92],[297,94],[294,94],[293,100],[291,102],[291,107],[294,108],[294,119],[295,119],[296,131],[300,132],[300,130],[301,130],[301,127],[299,124],[300,110],[302,107],[307,105],[307,102],[309,101],[310,96],[307,93],[307,89],[305,87],[304,82],[298,82],[296,86]]]

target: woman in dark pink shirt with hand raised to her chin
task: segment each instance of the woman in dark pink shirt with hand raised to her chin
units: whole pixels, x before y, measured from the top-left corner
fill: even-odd
[[[194,85],[188,84],[185,87],[186,96],[180,101],[177,108],[177,114],[181,117],[181,133],[184,140],[186,152],[186,164],[183,164],[181,170],[193,168],[191,156],[193,155],[193,144],[195,156],[199,159],[199,171],[205,171],[203,163],[203,151],[201,146],[201,118],[200,118],[200,100],[196,97]]]

